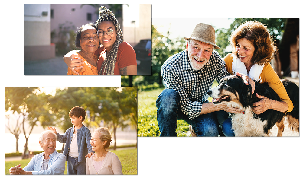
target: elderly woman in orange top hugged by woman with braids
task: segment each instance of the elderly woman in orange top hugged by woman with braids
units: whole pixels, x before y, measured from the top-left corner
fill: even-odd
[[[84,59],[82,69],[76,70],[79,75],[98,75],[97,60],[95,51],[99,47],[99,38],[97,28],[94,23],[82,25],[77,31],[75,46],[81,50],[77,53]],[[70,68],[67,69],[67,75],[77,75]]]

